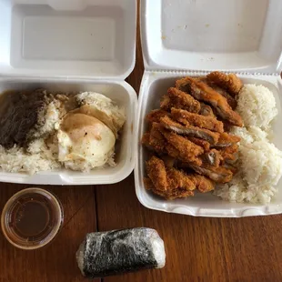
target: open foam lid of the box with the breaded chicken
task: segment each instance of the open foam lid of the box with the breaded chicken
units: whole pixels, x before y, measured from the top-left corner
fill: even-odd
[[[143,0],[141,34],[148,69],[282,68],[281,0]]]

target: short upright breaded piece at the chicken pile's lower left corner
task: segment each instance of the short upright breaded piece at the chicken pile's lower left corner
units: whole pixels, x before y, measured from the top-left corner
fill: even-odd
[[[166,191],[168,186],[166,166],[160,158],[152,156],[146,161],[146,174],[152,180],[156,189]]]

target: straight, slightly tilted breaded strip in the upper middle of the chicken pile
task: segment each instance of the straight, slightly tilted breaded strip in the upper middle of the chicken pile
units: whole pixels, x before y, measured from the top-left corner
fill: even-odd
[[[198,114],[189,113],[186,110],[176,109],[175,107],[171,108],[171,116],[177,122],[180,122],[184,125],[190,124],[191,126],[206,128],[211,131],[224,132],[223,123],[218,121],[217,118],[213,116],[201,116]]]

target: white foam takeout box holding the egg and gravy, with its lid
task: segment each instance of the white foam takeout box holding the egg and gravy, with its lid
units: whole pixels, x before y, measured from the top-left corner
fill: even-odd
[[[123,180],[135,165],[135,90],[124,80],[136,60],[134,0],[0,1],[0,92],[96,91],[126,108],[115,167],[34,176],[0,172],[0,181],[90,185]]]

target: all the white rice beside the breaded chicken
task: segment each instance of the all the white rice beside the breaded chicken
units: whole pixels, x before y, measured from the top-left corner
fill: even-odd
[[[215,194],[231,202],[266,204],[276,195],[282,176],[282,152],[269,142],[270,124],[277,116],[275,98],[264,86],[247,85],[237,100],[245,124],[231,130],[241,137],[238,173]]]

